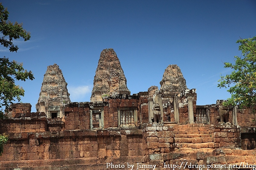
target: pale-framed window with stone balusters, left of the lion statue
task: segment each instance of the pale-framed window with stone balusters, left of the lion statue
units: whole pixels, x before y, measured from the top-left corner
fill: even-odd
[[[132,128],[138,126],[138,116],[136,107],[118,108],[118,127]]]

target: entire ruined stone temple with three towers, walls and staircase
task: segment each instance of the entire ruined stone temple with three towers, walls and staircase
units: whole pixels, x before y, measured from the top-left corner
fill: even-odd
[[[59,66],[48,66],[37,112],[14,103],[0,120],[9,136],[0,170],[255,168],[256,107],[196,105],[180,68],[164,69],[160,89],[131,95],[115,51],[104,49],[91,101],[71,102]]]

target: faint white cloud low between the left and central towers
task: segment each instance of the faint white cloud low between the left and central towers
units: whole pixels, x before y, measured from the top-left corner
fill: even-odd
[[[70,93],[71,101],[82,101],[87,94],[92,92],[92,89],[88,85],[78,86],[78,87],[68,87],[68,92]]]

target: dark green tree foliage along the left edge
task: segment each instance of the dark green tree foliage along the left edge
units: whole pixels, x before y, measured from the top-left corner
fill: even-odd
[[[11,52],[17,52],[19,48],[12,41],[20,37],[27,41],[30,38],[30,33],[22,28],[22,24],[15,22],[13,25],[8,20],[8,14],[7,9],[0,3],[0,31],[3,34],[0,38],[0,43],[9,48]],[[26,79],[33,80],[34,76],[31,71],[23,69],[22,63],[9,61],[5,57],[0,58],[0,119],[4,118],[3,107],[8,109],[13,100],[20,101],[20,96],[24,96],[23,88],[15,85],[15,80],[26,81]],[[3,147],[7,140],[8,137],[5,134],[0,134],[0,155],[3,153]]]

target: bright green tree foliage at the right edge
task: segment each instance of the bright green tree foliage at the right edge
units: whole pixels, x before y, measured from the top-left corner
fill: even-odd
[[[226,105],[241,105],[250,107],[256,104],[256,36],[248,39],[240,39],[239,50],[242,55],[235,56],[235,64],[224,63],[225,68],[231,68],[231,74],[221,76],[218,87],[229,87],[231,98]]]

